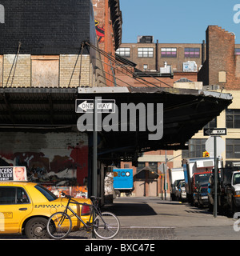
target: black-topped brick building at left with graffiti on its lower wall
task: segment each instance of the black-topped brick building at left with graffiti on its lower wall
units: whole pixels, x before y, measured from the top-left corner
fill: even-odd
[[[29,180],[53,190],[64,186],[75,196],[82,190],[78,186],[86,185],[91,168],[90,138],[76,127],[78,87],[106,86],[101,55],[82,44],[101,46],[94,8],[102,10],[97,18],[104,14],[111,28],[104,33],[103,49],[114,52],[122,33],[119,2],[96,3],[1,2],[1,166],[26,166]]]

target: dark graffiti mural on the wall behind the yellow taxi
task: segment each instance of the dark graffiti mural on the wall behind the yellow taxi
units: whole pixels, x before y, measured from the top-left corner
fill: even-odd
[[[40,138],[33,138],[35,144],[39,141],[38,146],[33,146],[26,134],[18,134],[12,140],[12,145],[8,139],[10,135],[6,138],[0,136],[0,166],[26,166],[28,181],[41,183],[58,196],[62,190],[66,190],[76,197],[85,197],[88,174],[87,139],[75,142],[73,146],[74,135],[69,138],[63,137],[64,135],[66,136],[41,134]],[[3,146],[7,145],[7,141],[9,148]],[[34,148],[30,150],[31,147]]]

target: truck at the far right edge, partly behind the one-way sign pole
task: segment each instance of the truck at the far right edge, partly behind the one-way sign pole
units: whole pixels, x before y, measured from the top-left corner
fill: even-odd
[[[240,163],[220,168],[218,172],[218,211],[234,214],[240,211]],[[214,174],[210,177],[208,197],[210,210],[214,208]]]

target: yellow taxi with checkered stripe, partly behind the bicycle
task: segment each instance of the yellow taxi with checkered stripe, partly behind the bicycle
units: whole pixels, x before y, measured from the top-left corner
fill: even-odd
[[[25,234],[27,238],[48,238],[46,223],[51,214],[65,210],[67,198],[58,198],[50,190],[33,182],[0,182],[0,234]],[[74,198],[91,204],[90,199]],[[90,206],[71,204],[84,222],[90,218]],[[82,223],[72,218],[74,230]]]

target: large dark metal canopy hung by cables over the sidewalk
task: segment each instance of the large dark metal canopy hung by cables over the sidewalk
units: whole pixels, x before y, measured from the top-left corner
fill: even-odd
[[[92,88],[2,88],[0,89],[0,128],[18,128],[45,132],[48,129],[76,130],[79,114],[75,99],[115,99],[138,104],[163,103],[163,137],[148,140],[149,132],[99,132],[102,138],[98,158],[134,160],[150,150],[178,150],[208,122],[232,102],[231,94],[204,90],[154,87],[92,87]],[[138,115],[137,115],[138,117]],[[89,133],[91,136],[91,133]]]

